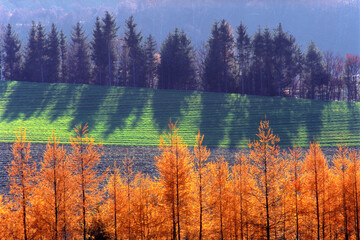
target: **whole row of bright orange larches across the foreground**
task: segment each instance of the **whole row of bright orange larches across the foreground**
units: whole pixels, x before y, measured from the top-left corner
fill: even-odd
[[[359,152],[339,146],[329,164],[318,143],[281,152],[261,121],[249,156],[209,162],[176,124],[160,138],[158,177],[135,173],[136,159],[97,172],[101,144],[75,128],[70,152],[53,134],[37,167],[26,131],[17,132],[0,196],[4,239],[359,239]]]

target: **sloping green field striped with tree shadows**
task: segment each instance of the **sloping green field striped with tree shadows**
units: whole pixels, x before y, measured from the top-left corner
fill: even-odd
[[[200,129],[212,147],[245,147],[264,116],[282,146],[360,144],[360,104],[240,94],[26,82],[0,83],[0,142],[28,129],[46,142],[53,129],[68,142],[75,124],[88,123],[104,144],[157,145],[169,118],[192,145]]]

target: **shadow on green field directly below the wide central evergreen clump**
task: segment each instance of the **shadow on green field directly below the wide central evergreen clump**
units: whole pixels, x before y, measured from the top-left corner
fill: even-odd
[[[191,102],[185,100],[194,94],[194,91],[183,90],[157,90],[152,96],[153,119],[159,128],[159,133],[168,130],[171,121],[181,122],[182,111],[189,109]]]

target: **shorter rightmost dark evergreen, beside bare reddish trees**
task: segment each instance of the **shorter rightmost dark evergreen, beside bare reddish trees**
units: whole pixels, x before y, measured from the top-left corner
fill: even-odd
[[[307,96],[315,99],[316,93],[320,91],[321,84],[323,83],[324,67],[322,65],[322,55],[316,48],[314,42],[311,42],[306,52],[306,85]]]

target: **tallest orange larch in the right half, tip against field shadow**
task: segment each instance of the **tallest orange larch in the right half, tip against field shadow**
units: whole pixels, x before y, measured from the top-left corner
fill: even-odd
[[[259,224],[265,230],[262,238],[277,237],[279,212],[282,198],[279,194],[284,162],[279,158],[280,138],[273,134],[269,121],[261,121],[258,140],[249,143],[251,174],[256,182],[253,194],[258,200]],[[265,221],[265,223],[264,223]]]

